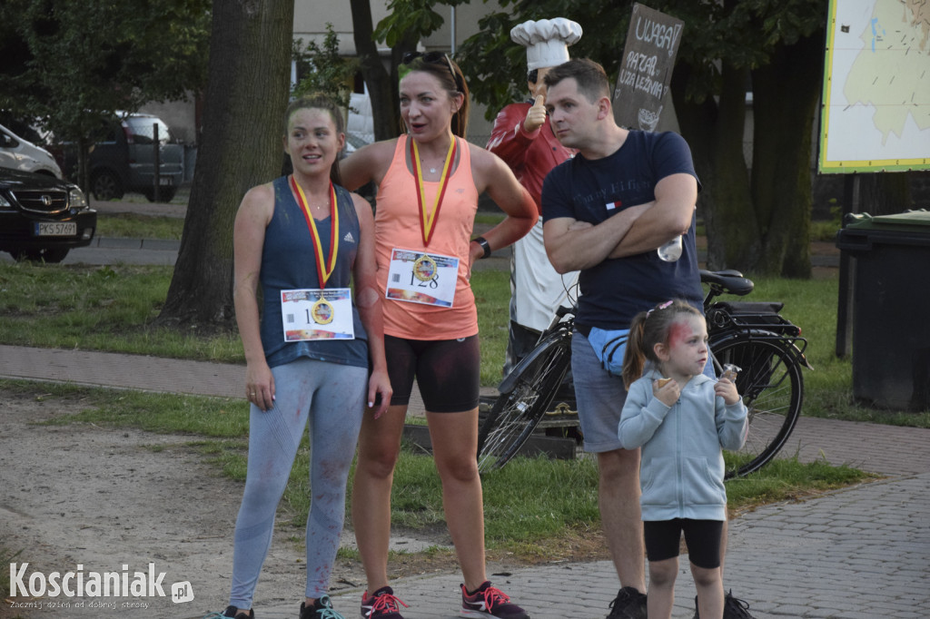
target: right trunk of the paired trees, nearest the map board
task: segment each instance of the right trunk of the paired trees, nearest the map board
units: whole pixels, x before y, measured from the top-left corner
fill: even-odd
[[[778,46],[752,72],[752,204],[761,227],[759,273],[811,274],[810,221],[814,117],[822,87],[823,33]]]

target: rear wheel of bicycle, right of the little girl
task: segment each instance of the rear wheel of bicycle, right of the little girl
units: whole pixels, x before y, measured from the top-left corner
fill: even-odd
[[[742,449],[729,452],[727,479],[748,475],[774,458],[801,415],[801,366],[777,335],[763,336],[730,336],[711,346],[717,362],[741,368],[737,390],[749,409],[749,436]]]

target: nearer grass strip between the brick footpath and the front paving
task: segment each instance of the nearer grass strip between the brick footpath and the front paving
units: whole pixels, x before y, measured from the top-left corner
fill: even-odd
[[[0,394],[8,399],[81,402],[79,414],[62,415],[49,424],[93,424],[188,435],[189,448],[203,454],[231,479],[243,482],[246,479],[248,407],[242,400],[11,380],[0,380]],[[282,507],[281,520],[295,529],[304,526],[310,507],[309,458],[304,437]],[[855,468],[779,460],[747,478],[727,481],[728,502],[731,511],[737,513],[761,503],[788,500],[867,479],[868,475]],[[597,469],[591,458],[568,461],[517,458],[507,467],[485,475],[483,485],[489,550],[514,553],[530,561],[551,558],[553,547],[560,548],[566,540],[600,528]],[[351,509],[351,484],[349,491]],[[442,489],[432,456],[413,446],[405,446],[405,455],[394,473],[392,522],[411,530],[432,529],[445,523]]]

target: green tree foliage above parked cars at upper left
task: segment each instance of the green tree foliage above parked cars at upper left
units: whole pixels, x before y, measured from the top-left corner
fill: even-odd
[[[5,0],[0,109],[86,144],[117,111],[204,84],[210,0]]]

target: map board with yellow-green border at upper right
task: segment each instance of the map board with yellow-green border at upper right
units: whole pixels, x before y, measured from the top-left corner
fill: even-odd
[[[930,169],[930,3],[830,0],[817,168]]]

